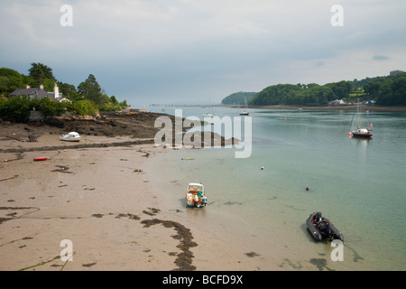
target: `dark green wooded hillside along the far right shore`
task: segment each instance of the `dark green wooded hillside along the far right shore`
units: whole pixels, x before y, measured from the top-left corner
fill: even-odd
[[[244,98],[245,92],[232,94],[223,99],[223,104],[237,104]],[[381,106],[406,106],[406,72],[385,77],[366,78],[353,81],[338,81],[325,85],[277,84],[269,86],[251,98],[252,106],[272,105],[327,105],[335,99],[375,100]],[[240,102],[241,104],[241,102]]]

